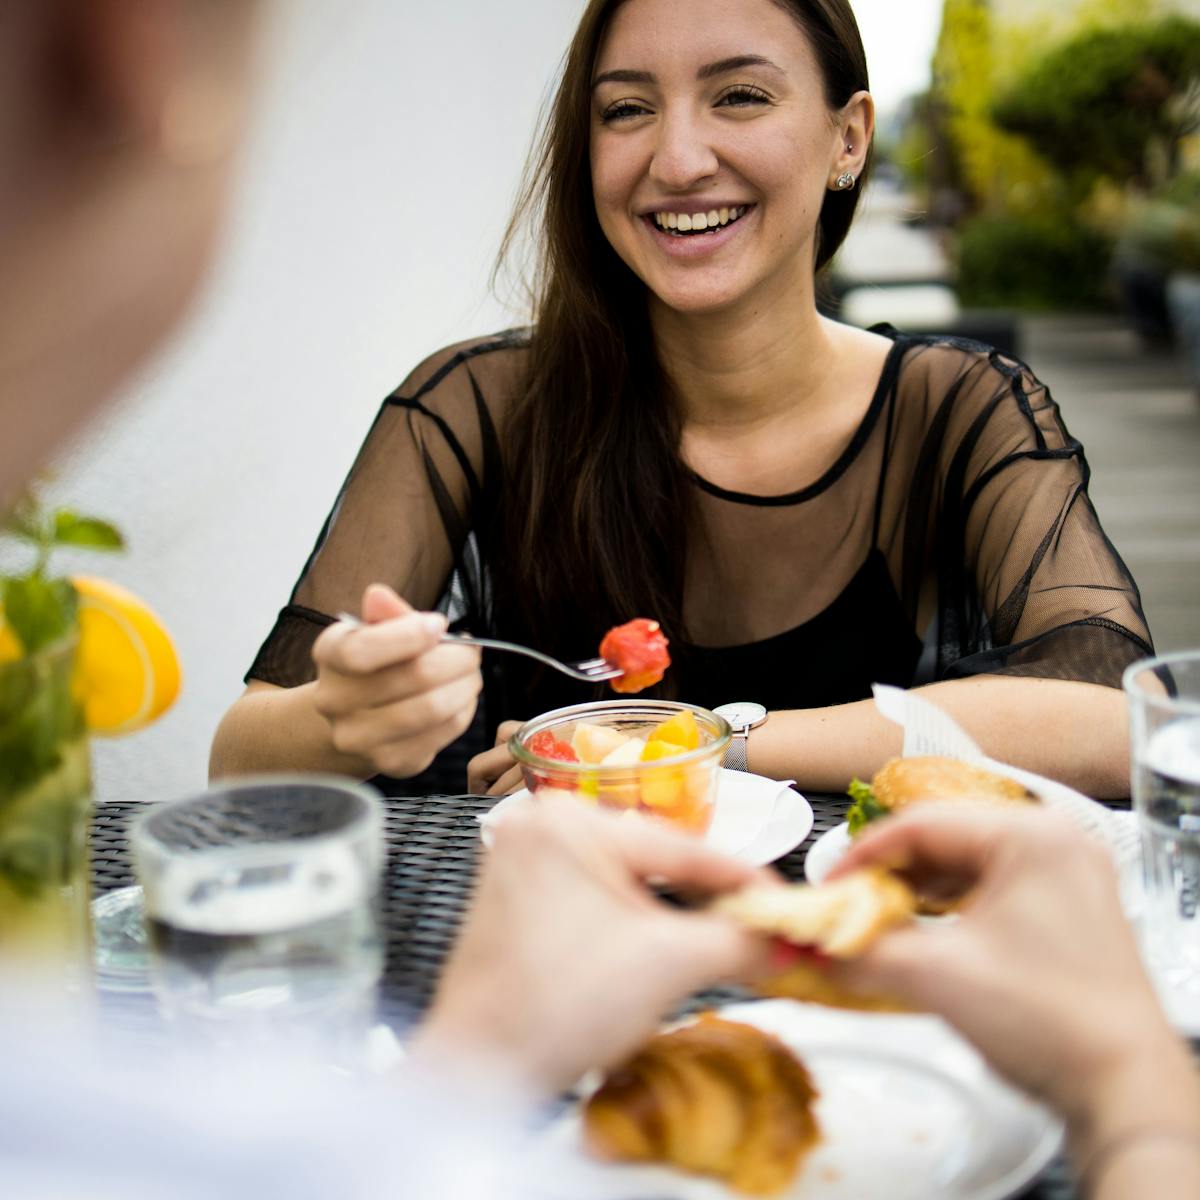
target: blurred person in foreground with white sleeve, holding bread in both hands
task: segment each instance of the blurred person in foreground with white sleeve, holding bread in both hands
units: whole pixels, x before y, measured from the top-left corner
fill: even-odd
[[[200,277],[258,7],[0,0],[0,494],[13,496],[155,346]],[[1184,1135],[1200,1120],[1194,1080],[1146,989],[1111,869],[1050,826],[990,818],[985,852],[974,827],[942,820],[898,822],[854,853],[908,854],[910,865],[978,878],[989,902],[954,928],[953,956],[932,937],[896,935],[859,970],[943,1012],[1091,1132],[1079,1145],[1096,1146],[1098,1195],[1142,1195],[1145,1180],[1172,1195],[1188,1182]],[[506,822],[398,1081],[314,1075],[295,1062],[185,1069],[136,1040],[114,1054],[14,1012],[10,978],[4,1194],[527,1193],[515,1148],[544,1097],[620,1058],[697,986],[762,967],[756,938],[661,906],[646,880],[713,894],[755,875],[667,830],[574,806]],[[1099,994],[1109,1052],[1104,1025],[1079,1014],[1081,997]],[[1001,1024],[988,1019],[997,1000]],[[1172,1097],[1169,1122],[1159,1109]],[[1132,1190],[1121,1172],[1134,1168]]]

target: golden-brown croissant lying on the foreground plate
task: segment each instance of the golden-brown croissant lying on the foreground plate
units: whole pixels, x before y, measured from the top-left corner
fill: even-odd
[[[583,1111],[600,1158],[665,1163],[770,1196],[818,1140],[808,1070],[778,1038],[706,1014],[654,1038]]]

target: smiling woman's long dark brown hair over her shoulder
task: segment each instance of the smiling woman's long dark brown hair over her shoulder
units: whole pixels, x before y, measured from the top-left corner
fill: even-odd
[[[637,616],[686,641],[691,484],[678,452],[680,416],[655,354],[644,284],[601,232],[592,193],[592,77],[623,2],[592,0],[583,13],[500,252],[527,223],[539,227],[529,371],[503,440],[494,614],[510,632],[564,653]],[[808,35],[830,109],[866,90],[847,0],[773,2]],[[817,271],[857,204],[858,191],[827,193]]]

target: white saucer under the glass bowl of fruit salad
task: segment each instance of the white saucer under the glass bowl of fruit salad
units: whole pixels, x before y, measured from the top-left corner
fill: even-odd
[[[480,838],[492,844],[492,829],[506,812],[533,804],[527,788],[505,796],[479,818]],[[794,850],[812,829],[812,809],[786,782],[744,770],[721,768],[716,782],[716,808],[704,841],[755,866],[775,862]]]

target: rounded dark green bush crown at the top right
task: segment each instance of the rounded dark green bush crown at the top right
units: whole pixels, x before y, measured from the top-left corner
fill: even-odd
[[[1002,128],[1066,173],[1146,180],[1151,156],[1174,158],[1200,79],[1200,24],[1093,29],[1036,59],[996,100]]]

